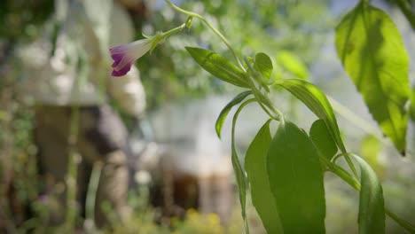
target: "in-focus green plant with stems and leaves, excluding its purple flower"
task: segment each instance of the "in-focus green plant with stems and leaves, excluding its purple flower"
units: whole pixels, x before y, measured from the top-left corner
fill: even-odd
[[[265,53],[240,59],[231,43],[203,16],[166,2],[188,16],[182,26],[173,29],[174,33],[192,27],[193,19],[201,20],[231,51],[234,63],[215,51],[186,47],[192,58],[223,82],[246,89],[223,108],[216,121],[216,132],[220,137],[231,108],[240,104],[232,121],[231,160],[247,233],[248,185],[254,207],[269,233],[325,233],[325,172],[339,176],[360,192],[360,233],[384,233],[386,215],[415,233],[410,222],[385,207],[382,186],[371,166],[348,152],[333,107],[323,91],[302,79],[276,79],[279,76],[272,73],[272,60]],[[169,32],[173,31],[159,35],[170,35]],[[153,45],[166,37],[153,37]],[[404,155],[408,121],[404,105],[410,98],[409,63],[395,24],[387,13],[362,0],[336,27],[335,43],[343,66],[363,95],[372,117]],[[269,95],[276,86],[289,91],[317,115],[309,133],[288,120],[271,102]],[[251,103],[260,105],[270,120],[263,124],[250,144],[243,168],[234,144],[235,129],[239,113]],[[278,129],[271,135],[270,123],[275,121],[279,122]],[[347,162],[348,168],[338,164],[340,159]]]

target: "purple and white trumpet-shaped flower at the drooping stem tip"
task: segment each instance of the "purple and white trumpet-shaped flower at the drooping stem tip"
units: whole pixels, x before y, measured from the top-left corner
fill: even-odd
[[[133,43],[122,44],[110,49],[111,58],[114,59],[113,76],[122,76],[129,72],[132,64],[141,58],[152,47],[149,39],[138,40]]]

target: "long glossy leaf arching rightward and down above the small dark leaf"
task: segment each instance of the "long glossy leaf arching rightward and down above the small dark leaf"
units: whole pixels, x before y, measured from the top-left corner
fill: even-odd
[[[341,152],[346,152],[346,148],[341,140],[341,134],[333,112],[333,107],[321,90],[310,82],[298,79],[278,81],[278,85],[290,91],[296,98],[300,99],[302,103],[307,105],[319,119],[325,121],[325,125]]]

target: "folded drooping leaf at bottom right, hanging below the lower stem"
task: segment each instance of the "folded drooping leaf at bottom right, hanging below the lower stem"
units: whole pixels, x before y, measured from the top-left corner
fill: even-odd
[[[362,158],[355,159],[361,170],[359,233],[385,233],[385,204],[378,176]]]

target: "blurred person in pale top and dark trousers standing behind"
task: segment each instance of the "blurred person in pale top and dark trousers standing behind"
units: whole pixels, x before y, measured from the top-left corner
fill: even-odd
[[[26,79],[22,93],[35,101],[35,143],[45,187],[44,198],[58,198],[51,223],[65,219],[68,160],[75,148],[77,199],[85,204],[90,168],[102,165],[95,204],[98,226],[107,220],[103,204],[121,219],[126,206],[128,131],[108,105],[115,100],[125,113],[139,118],[145,109],[145,90],[137,67],[123,77],[110,77],[108,48],[133,40],[127,7],[141,0],[57,0],[56,13],[37,42],[20,50]],[[71,148],[72,147],[72,148]],[[76,157],[75,157],[76,158]],[[84,207],[80,207],[82,213]]]

